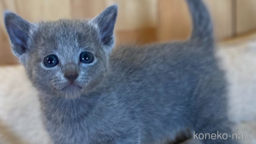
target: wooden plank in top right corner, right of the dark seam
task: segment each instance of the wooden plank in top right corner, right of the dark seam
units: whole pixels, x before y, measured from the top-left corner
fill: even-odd
[[[256,30],[256,1],[235,0],[237,10],[237,34]]]

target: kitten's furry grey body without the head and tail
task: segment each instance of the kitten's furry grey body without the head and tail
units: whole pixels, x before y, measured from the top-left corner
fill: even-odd
[[[183,47],[187,43],[190,47]],[[116,48],[110,57],[112,72],[92,93],[75,100],[41,97],[56,143],[150,143],[175,139],[186,129],[203,133],[196,124],[220,128],[215,121],[226,121],[219,117],[225,113],[225,83],[212,51],[201,53],[204,46],[193,42],[169,45]],[[61,133],[54,134],[56,129]]]

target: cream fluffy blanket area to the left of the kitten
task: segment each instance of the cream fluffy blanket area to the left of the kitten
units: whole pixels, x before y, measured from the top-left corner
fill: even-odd
[[[22,66],[0,68],[0,143],[49,144],[37,91]]]

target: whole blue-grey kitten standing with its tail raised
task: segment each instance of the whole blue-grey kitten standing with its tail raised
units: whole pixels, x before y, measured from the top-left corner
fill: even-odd
[[[190,40],[113,50],[117,6],[92,20],[30,23],[5,14],[12,48],[40,92],[55,143],[163,143],[180,133],[231,135],[209,13],[200,0],[187,3],[194,24]],[[209,137],[201,142],[235,143]]]

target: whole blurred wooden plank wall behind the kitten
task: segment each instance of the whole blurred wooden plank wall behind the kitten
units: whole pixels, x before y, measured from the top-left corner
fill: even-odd
[[[193,0],[190,0],[193,1]],[[255,0],[203,0],[210,9],[217,40],[256,29]],[[107,6],[118,4],[117,45],[185,40],[191,20],[185,0],[0,0],[8,9],[31,22],[93,18]],[[17,64],[0,15],[0,65]]]

